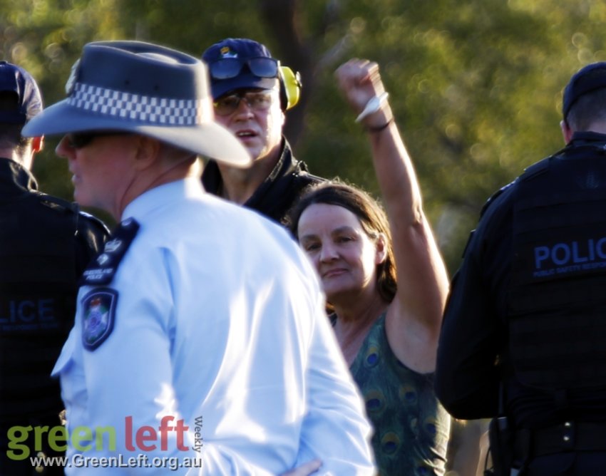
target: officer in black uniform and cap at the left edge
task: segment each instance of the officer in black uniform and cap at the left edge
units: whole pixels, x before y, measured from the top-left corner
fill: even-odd
[[[50,377],[73,326],[78,277],[108,235],[73,205],[38,192],[42,138],[21,136],[42,109],[29,73],[0,61],[0,475],[62,475],[29,456],[61,456],[58,381]],[[46,431],[43,428],[46,427]],[[38,443],[35,434],[38,432]],[[27,437],[27,438],[26,438]]]

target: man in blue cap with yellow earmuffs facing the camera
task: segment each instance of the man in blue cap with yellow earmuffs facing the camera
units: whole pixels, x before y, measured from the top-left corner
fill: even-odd
[[[252,164],[236,169],[209,162],[205,189],[283,222],[300,192],[319,177],[296,160],[282,135],[285,113],[299,100],[299,76],[281,66],[269,50],[247,38],[226,38],[202,54],[218,123],[240,140]]]

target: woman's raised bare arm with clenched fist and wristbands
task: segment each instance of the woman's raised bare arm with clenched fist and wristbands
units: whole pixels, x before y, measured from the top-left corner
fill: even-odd
[[[337,69],[337,79],[356,114],[371,98],[385,92],[379,66],[371,61],[344,63]],[[436,366],[448,276],[423,212],[414,166],[393,117],[389,100],[384,100],[379,110],[361,120],[369,134],[397,267],[398,291],[387,313],[387,337],[402,363],[426,373]]]

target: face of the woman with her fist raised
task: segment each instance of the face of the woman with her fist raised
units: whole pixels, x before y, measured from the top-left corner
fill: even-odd
[[[297,234],[329,302],[376,290],[383,240],[371,239],[354,213],[339,205],[310,205],[299,218]]]

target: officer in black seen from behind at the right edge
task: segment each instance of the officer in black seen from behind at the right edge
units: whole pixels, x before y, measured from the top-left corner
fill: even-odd
[[[606,474],[606,63],[572,76],[561,127],[484,207],[438,346],[444,407],[499,417],[495,474]]]

